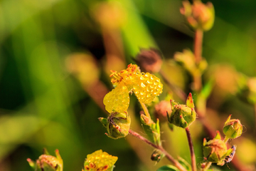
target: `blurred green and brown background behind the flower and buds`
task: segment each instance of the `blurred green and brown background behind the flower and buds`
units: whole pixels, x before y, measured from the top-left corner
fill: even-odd
[[[155,165],[153,149],[129,135],[107,138],[97,118],[106,116],[101,100],[112,89],[110,69],[126,68],[139,48],[159,48],[164,71],[189,93],[191,78],[173,61],[176,51],[193,48],[193,31],[179,13],[181,1],[123,0],[113,10],[98,4],[104,2],[0,1],[0,170],[32,170],[26,159],[36,160],[43,147],[52,154],[60,150],[66,171],[81,170],[86,155],[99,149],[119,157],[117,171],[156,170],[169,163]],[[256,1],[212,3],[215,24],[204,34],[203,57],[209,67],[203,81],[217,81],[207,118],[220,132],[228,115],[240,119],[245,133],[230,145],[238,145],[243,165],[255,166],[255,112],[235,96],[235,76],[237,71],[256,76]],[[107,16],[111,11],[114,15]],[[164,86],[160,99],[168,90]],[[132,129],[145,135],[134,97],[129,113]],[[171,132],[166,123],[161,128],[169,152],[190,161],[185,131]],[[209,140],[209,135],[199,122],[191,135],[200,162],[203,138]]]

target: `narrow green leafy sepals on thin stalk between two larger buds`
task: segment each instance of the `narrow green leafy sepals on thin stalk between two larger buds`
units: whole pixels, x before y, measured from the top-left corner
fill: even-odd
[[[142,127],[146,135],[148,135],[149,140],[156,145],[161,145],[159,120],[156,120],[156,123],[154,123],[154,121],[146,115],[141,115],[140,118],[142,121]]]

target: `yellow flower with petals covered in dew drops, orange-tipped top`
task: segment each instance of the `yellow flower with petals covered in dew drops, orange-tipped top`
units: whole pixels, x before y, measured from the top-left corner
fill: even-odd
[[[129,64],[120,73],[111,71],[111,82],[116,86],[105,95],[103,103],[109,113],[122,113],[129,107],[129,93],[134,93],[142,103],[151,103],[156,95],[160,95],[163,84],[151,73],[140,73],[137,65]]]

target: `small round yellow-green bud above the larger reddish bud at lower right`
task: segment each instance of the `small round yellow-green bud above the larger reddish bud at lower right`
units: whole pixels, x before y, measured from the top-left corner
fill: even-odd
[[[226,138],[238,138],[240,135],[242,135],[242,124],[240,123],[240,120],[230,120],[230,118],[231,115],[224,124],[223,133],[225,134]]]

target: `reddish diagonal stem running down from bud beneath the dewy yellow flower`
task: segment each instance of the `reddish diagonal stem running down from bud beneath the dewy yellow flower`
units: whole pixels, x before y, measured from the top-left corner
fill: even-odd
[[[142,135],[139,135],[139,133],[136,133],[133,130],[129,130],[129,134],[133,135],[136,138],[139,138],[139,140],[146,142],[148,145],[151,145],[152,147],[161,150],[161,152],[163,152],[164,155],[166,155],[168,160],[172,162],[175,165],[175,167],[178,168],[178,170],[187,171],[177,160],[174,159],[174,157],[172,157],[168,152],[166,152],[166,150],[164,150],[164,148],[161,147],[160,145],[155,145],[154,143],[150,142],[146,138],[142,137]]]

